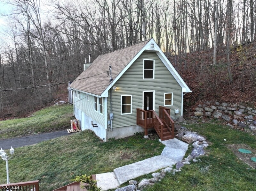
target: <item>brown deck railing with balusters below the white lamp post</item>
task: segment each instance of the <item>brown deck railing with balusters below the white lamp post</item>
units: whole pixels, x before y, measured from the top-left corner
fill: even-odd
[[[39,180],[0,185],[0,190],[39,191]]]

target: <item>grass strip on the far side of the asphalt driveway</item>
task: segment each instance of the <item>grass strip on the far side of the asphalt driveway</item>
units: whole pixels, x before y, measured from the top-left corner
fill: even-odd
[[[73,105],[61,105],[41,109],[31,117],[0,121],[0,139],[67,129],[72,115]]]

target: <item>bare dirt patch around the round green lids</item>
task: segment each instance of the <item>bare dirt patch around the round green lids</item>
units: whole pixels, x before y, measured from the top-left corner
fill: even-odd
[[[247,165],[250,165],[252,168],[256,168],[256,162],[253,162],[251,160],[252,157],[256,157],[256,150],[255,149],[252,149],[251,147],[249,147],[246,144],[229,144],[228,148],[231,149],[235,153],[235,155],[239,159],[243,160]],[[238,149],[241,149],[241,148],[250,150],[250,151],[252,151],[252,153],[251,154],[245,154],[245,153],[239,152]]]

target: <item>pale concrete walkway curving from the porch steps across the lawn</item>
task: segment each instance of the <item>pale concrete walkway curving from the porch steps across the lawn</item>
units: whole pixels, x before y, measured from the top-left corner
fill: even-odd
[[[181,161],[188,150],[187,143],[175,138],[159,141],[165,145],[161,155],[121,166],[114,169],[114,173],[96,174],[98,187],[102,190],[115,189],[128,180],[172,166]]]

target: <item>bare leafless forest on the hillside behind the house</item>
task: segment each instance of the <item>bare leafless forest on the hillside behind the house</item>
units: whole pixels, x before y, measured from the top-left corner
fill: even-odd
[[[216,99],[227,88],[246,92],[237,78],[248,78],[250,86],[256,81],[255,0],[2,2],[12,11],[1,15],[7,26],[0,42],[0,118],[21,116],[49,103],[59,85],[1,90],[72,81],[82,72],[88,53],[94,60],[151,37],[192,86],[193,100],[200,98],[200,91],[213,91]],[[237,59],[234,51],[240,54]],[[252,56],[250,62],[247,55]],[[234,73],[241,63],[246,63],[243,76]],[[224,85],[218,89],[212,87],[215,83]]]

